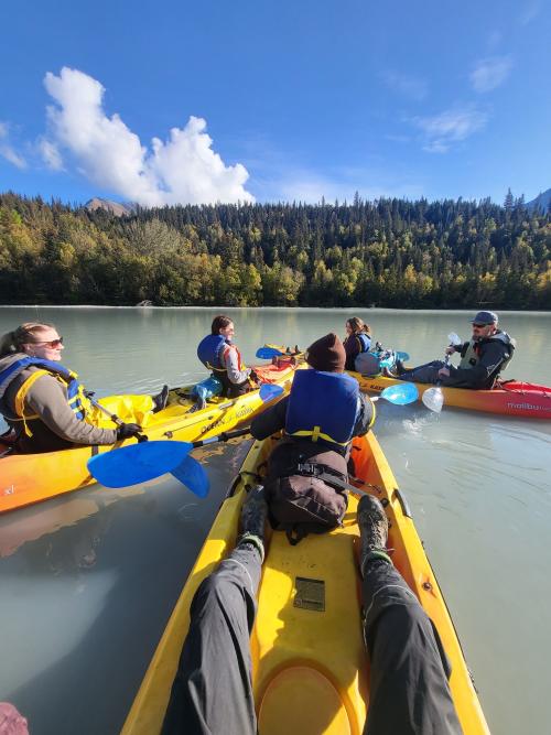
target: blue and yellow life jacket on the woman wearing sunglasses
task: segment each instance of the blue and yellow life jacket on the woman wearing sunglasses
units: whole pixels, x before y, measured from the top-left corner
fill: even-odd
[[[31,372],[29,378],[26,378],[20,386],[13,400],[14,414],[7,415],[6,418],[9,421],[23,421],[26,435],[32,436],[32,432],[26,425],[26,420],[40,419],[40,417],[37,413],[25,413],[25,398],[39,378],[43,375],[51,375],[66,386],[69,408],[77,419],[84,421],[86,412],[91,408],[90,401],[86,398],[84,386],[79,382],[76,372],[73,372],[73,370],[69,370],[63,365],[60,365],[60,363],[53,360],[46,360],[40,357],[22,357],[21,359],[13,361],[10,366],[0,371],[0,399],[6,394],[8,386],[10,386],[23,370],[31,366],[37,367],[39,369]]]

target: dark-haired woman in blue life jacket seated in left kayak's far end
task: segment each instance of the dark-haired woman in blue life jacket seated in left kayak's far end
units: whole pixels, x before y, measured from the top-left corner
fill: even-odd
[[[234,322],[229,316],[215,316],[210,334],[199,342],[197,357],[224,386],[224,396],[237,398],[258,388],[255,370],[244,365],[241,354],[233,344]]]

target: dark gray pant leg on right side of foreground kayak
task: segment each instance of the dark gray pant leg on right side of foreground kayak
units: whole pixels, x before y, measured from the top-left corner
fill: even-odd
[[[364,735],[462,733],[450,663],[431,620],[396,569],[367,564],[364,635],[371,663]]]

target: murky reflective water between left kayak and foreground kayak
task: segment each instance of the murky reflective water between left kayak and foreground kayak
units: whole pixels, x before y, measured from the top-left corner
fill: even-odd
[[[212,491],[95,486],[0,518],[0,699],[33,735],[117,733],[247,443],[196,452]],[[6,662],[9,661],[9,666]]]

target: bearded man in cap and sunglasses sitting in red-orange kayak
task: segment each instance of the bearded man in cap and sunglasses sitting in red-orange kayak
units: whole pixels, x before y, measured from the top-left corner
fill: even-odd
[[[453,388],[493,388],[499,372],[510,363],[516,343],[507,332],[498,329],[498,316],[494,312],[478,312],[472,324],[471,339],[462,345],[450,345],[445,350],[446,355],[461,354],[460,367],[433,360],[407,369],[398,361],[393,371],[385,369],[383,375],[411,382],[441,382]]]

